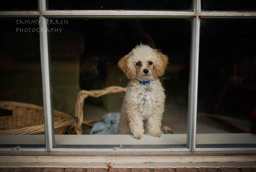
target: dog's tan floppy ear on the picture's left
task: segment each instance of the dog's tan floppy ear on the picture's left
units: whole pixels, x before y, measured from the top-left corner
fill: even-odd
[[[123,56],[118,62],[118,67],[120,67],[129,79],[134,79],[136,76],[136,69],[133,65],[132,57],[132,53],[129,53]]]

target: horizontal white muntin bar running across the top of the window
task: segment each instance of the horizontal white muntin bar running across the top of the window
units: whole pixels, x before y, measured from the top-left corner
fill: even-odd
[[[255,12],[223,12],[223,11],[203,11],[203,12],[179,12],[179,11],[130,11],[130,10],[46,10],[42,13],[38,11],[0,11],[0,17],[32,17],[39,15],[47,16],[48,18],[192,18],[200,17],[222,17],[222,18],[247,18],[255,17]]]

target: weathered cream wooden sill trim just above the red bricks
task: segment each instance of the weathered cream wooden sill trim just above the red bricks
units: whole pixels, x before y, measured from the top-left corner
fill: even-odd
[[[256,156],[0,156],[0,167],[55,168],[200,168],[256,167]]]

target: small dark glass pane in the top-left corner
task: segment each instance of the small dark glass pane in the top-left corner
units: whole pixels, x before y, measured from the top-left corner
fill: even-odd
[[[37,10],[38,1],[5,1],[4,4],[0,6],[0,11],[20,11],[20,10]]]

